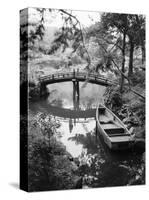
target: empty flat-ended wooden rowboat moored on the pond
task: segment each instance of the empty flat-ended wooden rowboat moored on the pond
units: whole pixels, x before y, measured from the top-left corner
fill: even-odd
[[[96,121],[98,132],[110,149],[123,150],[134,145],[135,135],[130,133],[123,122],[104,105],[97,107]]]

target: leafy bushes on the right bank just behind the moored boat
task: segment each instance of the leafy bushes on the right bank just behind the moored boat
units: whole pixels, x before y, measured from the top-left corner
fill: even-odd
[[[133,88],[136,88],[140,93],[144,91],[145,80],[143,71],[134,73],[131,81]],[[105,104],[123,120],[129,129],[131,127],[134,128],[136,137],[145,137],[145,102],[132,94],[128,85],[124,87],[123,96],[120,93],[119,87],[107,88]]]

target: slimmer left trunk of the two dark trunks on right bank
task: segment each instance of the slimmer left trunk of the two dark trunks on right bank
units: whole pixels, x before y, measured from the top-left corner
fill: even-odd
[[[126,33],[123,33],[123,47],[122,47],[122,73],[125,73],[125,46],[126,46]],[[124,76],[121,75],[120,92],[123,92]]]

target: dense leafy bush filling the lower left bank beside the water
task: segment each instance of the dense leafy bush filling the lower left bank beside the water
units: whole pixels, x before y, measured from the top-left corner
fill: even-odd
[[[75,185],[74,168],[56,135],[59,121],[38,113],[29,123],[29,191],[70,189]]]

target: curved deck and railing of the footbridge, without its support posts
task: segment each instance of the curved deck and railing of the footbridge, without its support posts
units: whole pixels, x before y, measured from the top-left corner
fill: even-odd
[[[39,78],[39,82],[43,85],[65,82],[65,81],[86,81],[86,80],[90,83],[103,86],[111,86],[116,84],[116,82],[104,78],[103,76],[94,73],[85,73],[79,71],[50,74],[48,76],[41,76]]]

